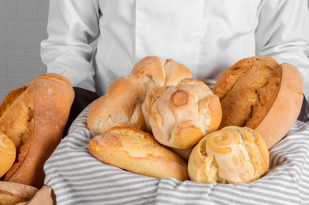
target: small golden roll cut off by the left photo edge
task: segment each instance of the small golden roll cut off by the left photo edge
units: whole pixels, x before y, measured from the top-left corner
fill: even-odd
[[[0,177],[13,165],[16,158],[16,148],[13,142],[0,132]]]

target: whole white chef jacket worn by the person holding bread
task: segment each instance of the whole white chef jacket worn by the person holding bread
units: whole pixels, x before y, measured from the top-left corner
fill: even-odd
[[[308,98],[308,13],[307,0],[50,0],[41,59],[102,95],[146,56],[183,63],[197,79],[270,56],[299,68]]]

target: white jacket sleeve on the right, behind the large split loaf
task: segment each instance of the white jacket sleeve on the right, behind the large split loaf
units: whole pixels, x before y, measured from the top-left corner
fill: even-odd
[[[309,99],[309,10],[307,0],[262,0],[256,29],[257,54],[300,70]]]

